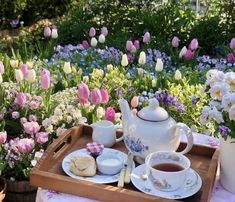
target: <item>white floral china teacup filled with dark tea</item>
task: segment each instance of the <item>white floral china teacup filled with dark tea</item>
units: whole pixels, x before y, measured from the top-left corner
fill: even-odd
[[[161,191],[174,191],[182,187],[191,165],[186,156],[170,151],[149,154],[145,164],[148,179]]]

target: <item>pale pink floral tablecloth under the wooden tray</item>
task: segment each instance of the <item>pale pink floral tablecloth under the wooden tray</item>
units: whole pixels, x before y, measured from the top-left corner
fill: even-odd
[[[193,135],[194,143],[196,144],[210,145],[212,147],[219,146],[219,140],[216,138],[198,133],[194,133]],[[181,136],[181,141],[185,141],[184,136]],[[36,202],[95,202],[95,200],[39,188],[37,192]],[[219,169],[212,192],[211,202],[235,202],[235,194],[226,191],[219,182]]]

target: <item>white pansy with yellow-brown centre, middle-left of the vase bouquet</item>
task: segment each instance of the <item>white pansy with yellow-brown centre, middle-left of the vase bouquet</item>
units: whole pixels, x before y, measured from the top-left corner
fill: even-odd
[[[214,100],[222,100],[222,97],[229,92],[230,87],[226,83],[217,82],[209,90]]]

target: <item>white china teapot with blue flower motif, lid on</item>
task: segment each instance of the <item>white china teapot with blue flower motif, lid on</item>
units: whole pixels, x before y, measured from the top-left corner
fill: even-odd
[[[122,112],[124,142],[128,150],[143,162],[145,157],[156,151],[176,151],[180,144],[180,129],[187,136],[185,154],[193,146],[191,129],[184,123],[176,123],[167,111],[159,106],[156,98],[149,100],[149,106],[141,109],[136,115],[131,113],[127,101],[119,100]]]

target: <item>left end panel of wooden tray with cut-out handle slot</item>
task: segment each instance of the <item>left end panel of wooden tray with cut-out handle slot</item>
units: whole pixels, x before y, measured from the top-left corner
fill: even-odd
[[[67,129],[47,148],[47,155],[57,159],[70,148],[82,132],[82,125]]]

